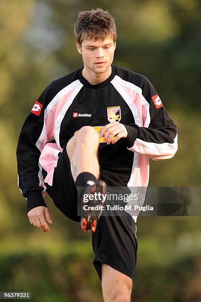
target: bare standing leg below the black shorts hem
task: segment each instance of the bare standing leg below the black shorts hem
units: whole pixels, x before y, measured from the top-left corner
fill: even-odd
[[[130,302],[133,281],[122,272],[102,264],[102,294],[104,302]]]

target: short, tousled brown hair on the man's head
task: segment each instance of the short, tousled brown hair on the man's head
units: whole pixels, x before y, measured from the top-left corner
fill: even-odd
[[[114,18],[107,10],[101,8],[79,12],[74,25],[74,34],[80,45],[84,39],[94,41],[101,39],[103,41],[105,38],[111,37],[114,42],[117,39]]]

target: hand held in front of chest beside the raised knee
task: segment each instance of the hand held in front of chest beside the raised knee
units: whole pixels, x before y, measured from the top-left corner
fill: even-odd
[[[100,127],[100,130],[100,137],[104,135],[103,142],[107,143],[107,145],[111,143],[111,140],[114,136],[116,137],[112,141],[112,144],[115,144],[120,138],[127,137],[128,135],[126,127],[117,121],[109,123],[104,127]]]

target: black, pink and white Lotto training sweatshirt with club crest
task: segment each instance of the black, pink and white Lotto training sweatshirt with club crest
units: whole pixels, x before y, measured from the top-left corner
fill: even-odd
[[[52,186],[54,168],[65,143],[85,125],[117,121],[128,131],[115,144],[100,138],[100,176],[107,185],[146,187],[149,157],[171,158],[177,151],[177,127],[150,81],[112,65],[102,83],[90,84],[82,69],[51,82],[25,120],[17,146],[18,185],[27,198],[27,212],[46,206],[44,183]],[[42,178],[42,167],[47,172]],[[42,192],[42,193],[41,193]]]

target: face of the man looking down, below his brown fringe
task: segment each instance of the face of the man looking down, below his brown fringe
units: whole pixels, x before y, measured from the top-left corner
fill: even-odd
[[[77,43],[77,50],[82,55],[84,67],[95,74],[104,74],[110,68],[116,42],[112,38],[105,40],[83,40],[81,46]]]

